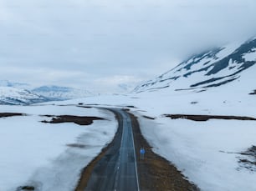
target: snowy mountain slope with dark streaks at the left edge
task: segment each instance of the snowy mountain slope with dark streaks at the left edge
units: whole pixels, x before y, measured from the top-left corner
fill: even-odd
[[[13,87],[0,87],[0,104],[20,105],[45,101],[48,101],[48,99],[31,93],[28,90]]]

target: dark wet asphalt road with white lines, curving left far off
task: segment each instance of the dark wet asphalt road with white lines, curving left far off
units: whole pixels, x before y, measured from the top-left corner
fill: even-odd
[[[119,128],[103,158],[95,165],[86,191],[136,191],[140,190],[131,118],[120,109],[110,109],[119,117]]]

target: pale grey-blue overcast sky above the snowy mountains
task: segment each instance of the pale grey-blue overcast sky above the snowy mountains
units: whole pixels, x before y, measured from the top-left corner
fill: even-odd
[[[0,79],[116,92],[256,35],[255,0],[0,0]]]

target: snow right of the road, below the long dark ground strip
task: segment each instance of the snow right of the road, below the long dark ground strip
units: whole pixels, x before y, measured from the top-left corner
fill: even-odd
[[[153,151],[175,163],[202,190],[256,189],[256,173],[238,170],[238,153],[256,145],[256,122],[139,120]]]

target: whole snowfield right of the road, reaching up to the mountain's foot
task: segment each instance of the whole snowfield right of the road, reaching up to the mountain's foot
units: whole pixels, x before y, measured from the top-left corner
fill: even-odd
[[[256,89],[254,71],[244,71],[233,83],[206,92],[138,93],[126,96],[101,96],[67,101],[65,103],[102,104],[105,107],[127,107],[140,117],[141,129],[154,151],[174,163],[199,188],[215,190],[256,190],[256,171],[243,168],[241,155],[256,145],[256,122],[211,119],[195,122],[187,119],[166,118],[163,114],[235,115],[256,118]],[[242,165],[242,167],[241,167]]]

